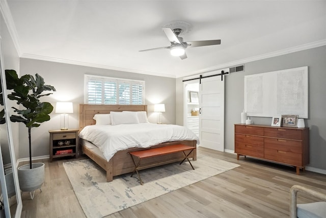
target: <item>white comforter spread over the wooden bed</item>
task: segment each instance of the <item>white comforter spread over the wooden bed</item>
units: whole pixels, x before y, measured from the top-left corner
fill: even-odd
[[[95,144],[110,160],[117,151],[128,148],[148,148],[167,141],[197,140],[199,138],[188,128],[162,124],[120,124],[86,126],[79,137]]]

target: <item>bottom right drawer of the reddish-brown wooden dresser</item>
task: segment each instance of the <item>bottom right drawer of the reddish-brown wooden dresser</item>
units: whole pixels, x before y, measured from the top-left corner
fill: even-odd
[[[264,158],[290,165],[302,166],[302,154],[276,149],[264,149]]]

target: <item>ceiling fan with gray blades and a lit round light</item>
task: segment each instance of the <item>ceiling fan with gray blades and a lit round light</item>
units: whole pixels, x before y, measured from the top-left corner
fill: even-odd
[[[182,29],[176,28],[172,30],[171,28],[168,27],[162,27],[162,30],[167,35],[168,39],[171,42],[171,45],[166,47],[156,47],[155,49],[141,50],[140,52],[147,52],[147,51],[158,50],[158,49],[170,49],[171,55],[179,56],[183,60],[187,58],[187,55],[185,54],[185,49],[187,47],[199,47],[199,46],[221,44],[221,39],[184,42],[183,38],[179,37],[179,34],[183,32]]]

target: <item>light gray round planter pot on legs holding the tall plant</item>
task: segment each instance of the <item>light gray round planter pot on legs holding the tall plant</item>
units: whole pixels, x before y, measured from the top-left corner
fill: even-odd
[[[30,164],[22,165],[18,167],[18,179],[20,190],[22,191],[35,191],[40,188],[44,182],[45,168],[44,163],[32,163],[32,169]],[[34,193],[33,193],[34,197]],[[32,193],[31,193],[31,198]]]

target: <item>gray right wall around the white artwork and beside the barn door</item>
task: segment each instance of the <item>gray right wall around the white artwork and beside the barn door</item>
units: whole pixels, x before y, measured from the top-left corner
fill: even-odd
[[[245,72],[225,77],[225,149],[234,150],[234,124],[240,123],[244,99],[244,76],[282,69],[308,66],[309,118],[305,119],[310,128],[310,163],[308,166],[326,169],[326,46],[295,52],[244,64]],[[182,78],[178,78],[176,99],[182,99]],[[176,105],[177,124],[183,124],[183,105]],[[255,124],[270,125],[271,118],[252,117]]]

